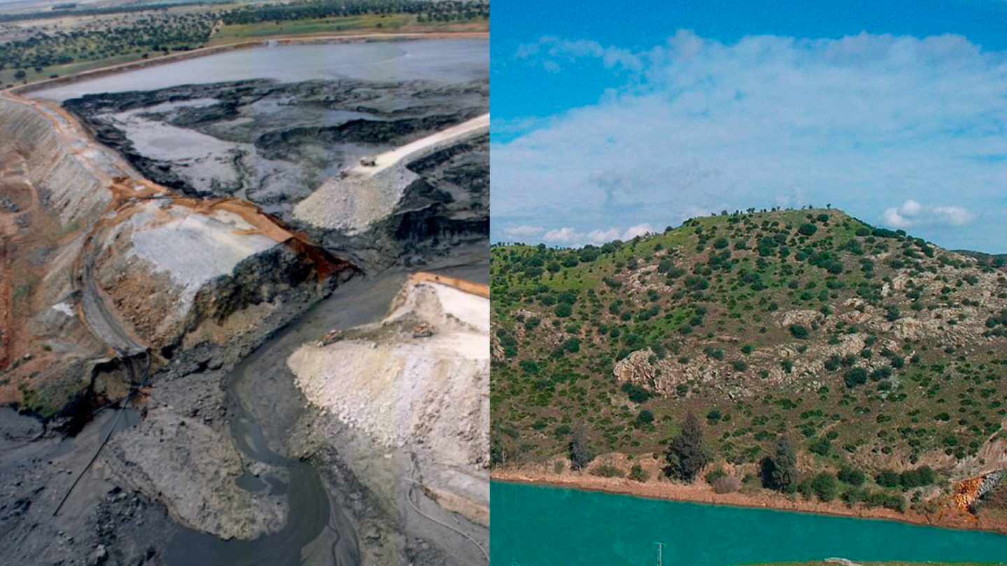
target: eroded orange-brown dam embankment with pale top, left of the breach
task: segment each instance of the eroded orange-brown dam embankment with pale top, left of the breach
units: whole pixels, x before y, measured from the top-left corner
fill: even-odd
[[[124,395],[97,375],[117,355],[150,347],[155,370],[195,346],[238,356],[255,322],[353,272],[249,202],[143,179],[57,107],[5,93],[0,116],[0,179],[28,204],[3,214],[0,402],[66,417]]]

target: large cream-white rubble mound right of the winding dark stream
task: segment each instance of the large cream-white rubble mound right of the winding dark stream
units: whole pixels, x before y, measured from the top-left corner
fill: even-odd
[[[425,322],[429,337],[414,337]],[[307,399],[389,447],[440,465],[488,464],[489,301],[437,283],[407,283],[380,323],[306,344],[288,360]]]

